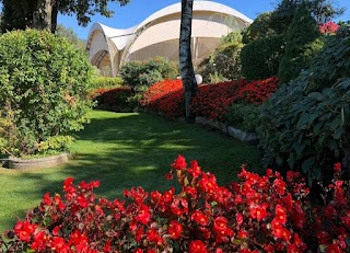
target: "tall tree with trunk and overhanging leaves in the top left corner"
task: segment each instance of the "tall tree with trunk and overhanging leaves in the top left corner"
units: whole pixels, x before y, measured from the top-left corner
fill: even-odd
[[[75,14],[78,23],[86,26],[91,15],[100,13],[112,16],[108,2],[119,2],[124,5],[129,0],[0,0],[3,8],[1,30],[24,30],[33,27],[49,30],[55,33],[58,13]]]

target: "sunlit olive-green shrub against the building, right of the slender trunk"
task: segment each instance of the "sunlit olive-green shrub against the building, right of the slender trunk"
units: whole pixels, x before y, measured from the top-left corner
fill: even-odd
[[[241,78],[241,49],[243,47],[240,32],[232,32],[221,39],[215,50],[198,68],[203,81],[213,83],[222,80]]]

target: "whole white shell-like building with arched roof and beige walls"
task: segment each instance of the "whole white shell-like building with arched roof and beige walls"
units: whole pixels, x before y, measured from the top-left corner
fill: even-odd
[[[180,2],[168,5],[126,30],[94,23],[86,43],[92,65],[105,76],[116,76],[129,60],[163,56],[178,61]],[[236,10],[212,1],[194,1],[191,54],[194,64],[218,46],[222,36],[253,21]]]

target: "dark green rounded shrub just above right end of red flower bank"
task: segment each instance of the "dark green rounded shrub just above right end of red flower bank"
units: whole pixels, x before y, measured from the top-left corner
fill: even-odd
[[[242,74],[249,80],[277,76],[284,39],[283,35],[271,35],[245,45],[241,51]]]

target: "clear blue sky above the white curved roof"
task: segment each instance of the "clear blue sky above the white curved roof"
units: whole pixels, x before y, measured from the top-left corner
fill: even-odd
[[[213,0],[225,5],[229,5],[246,16],[254,20],[259,13],[271,11],[278,0]],[[116,28],[127,28],[133,26],[153,12],[161,10],[164,7],[179,2],[179,0],[131,0],[127,5],[120,7],[118,3],[109,3],[108,7],[115,14],[113,18],[104,18],[101,15],[92,16],[91,23],[86,27],[79,26],[74,16],[59,15],[58,23],[66,27],[72,28],[78,37],[86,39],[89,30],[94,22],[101,22],[105,25]],[[347,9],[341,20],[350,20],[350,0],[334,0],[338,7]]]

